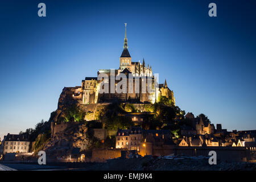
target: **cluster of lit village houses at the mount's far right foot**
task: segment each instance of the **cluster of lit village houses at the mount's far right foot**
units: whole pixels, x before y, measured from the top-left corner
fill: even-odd
[[[248,131],[227,131],[222,129],[221,124],[216,125],[206,122],[203,118],[195,118],[192,113],[187,113],[185,118],[191,121],[191,126],[181,127],[182,138],[179,140],[179,146],[232,146],[246,147],[255,151],[256,130]]]

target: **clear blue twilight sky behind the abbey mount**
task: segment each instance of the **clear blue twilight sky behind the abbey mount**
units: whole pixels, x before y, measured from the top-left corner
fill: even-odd
[[[1,1],[1,138],[48,120],[64,86],[118,68],[123,23],[132,60],[144,57],[166,78],[181,109],[228,130],[256,129],[255,9],[255,1]]]

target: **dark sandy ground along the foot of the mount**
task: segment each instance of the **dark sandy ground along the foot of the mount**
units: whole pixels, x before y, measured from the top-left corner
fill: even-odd
[[[208,159],[112,159],[106,163],[55,163],[47,165],[5,163],[17,170],[86,170],[86,171],[256,171],[255,162],[217,162]]]

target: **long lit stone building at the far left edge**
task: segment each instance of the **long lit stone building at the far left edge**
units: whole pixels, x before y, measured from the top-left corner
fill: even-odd
[[[7,134],[2,141],[0,154],[29,152],[31,142],[26,135]]]

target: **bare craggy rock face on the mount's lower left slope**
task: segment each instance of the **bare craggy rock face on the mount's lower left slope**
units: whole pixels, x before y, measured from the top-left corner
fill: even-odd
[[[67,126],[63,130],[56,132],[43,148],[48,158],[66,159],[71,155],[73,148],[80,148],[80,151],[85,151],[92,144],[86,135],[88,128],[84,124],[74,122],[64,124]]]

